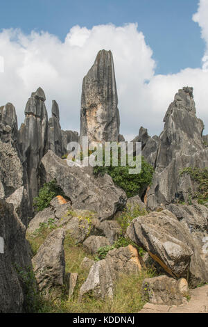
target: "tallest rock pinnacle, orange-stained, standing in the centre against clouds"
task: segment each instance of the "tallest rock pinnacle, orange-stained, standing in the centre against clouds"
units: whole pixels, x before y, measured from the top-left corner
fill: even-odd
[[[119,141],[119,109],[111,51],[101,50],[83,79],[80,142]]]

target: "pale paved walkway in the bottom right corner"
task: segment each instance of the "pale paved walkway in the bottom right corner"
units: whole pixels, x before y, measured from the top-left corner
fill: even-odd
[[[190,289],[191,300],[179,305],[146,303],[139,313],[208,313],[208,285]]]

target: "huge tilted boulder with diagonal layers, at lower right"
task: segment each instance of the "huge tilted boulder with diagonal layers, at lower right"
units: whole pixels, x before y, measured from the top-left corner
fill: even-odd
[[[174,278],[187,277],[192,287],[207,282],[205,262],[189,230],[168,210],[135,218],[126,236],[148,251]]]

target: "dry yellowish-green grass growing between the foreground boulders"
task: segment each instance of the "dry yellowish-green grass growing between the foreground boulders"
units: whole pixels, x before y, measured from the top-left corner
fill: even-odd
[[[33,253],[44,242],[47,235],[51,232],[50,228],[42,228],[36,235],[28,237]],[[90,294],[85,294],[82,301],[79,301],[79,289],[85,282],[89,269],[81,269],[80,263],[84,257],[94,260],[93,255],[85,253],[81,244],[76,244],[69,232],[64,240],[64,255],[66,262],[66,273],[78,273],[78,282],[75,292],[68,301],[67,292],[63,293],[59,301],[44,301],[40,298],[40,309],[38,312],[58,312],[58,313],[135,313],[139,312],[144,306],[141,298],[141,285],[145,278],[153,277],[154,271],[144,270],[137,275],[121,275],[114,287],[114,298],[112,300],[96,299]]]

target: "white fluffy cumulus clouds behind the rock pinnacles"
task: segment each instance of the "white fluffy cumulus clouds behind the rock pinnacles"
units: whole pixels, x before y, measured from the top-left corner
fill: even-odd
[[[200,25],[202,38],[208,45],[207,2],[200,1],[193,20]],[[19,123],[23,122],[26,101],[41,86],[46,93],[49,116],[51,102],[56,99],[62,128],[79,131],[83,77],[100,49],[111,49],[114,56],[121,133],[128,140],[138,134],[141,125],[150,134],[159,134],[168,104],[178,88],[187,85],[194,88],[198,117],[208,125],[208,69],[205,69],[208,50],[203,67],[157,75],[153,51],[146,45],[144,34],[137,30],[137,24],[122,27],[107,24],[92,29],[73,26],[64,42],[46,32],[32,31],[24,35],[20,30],[3,30],[0,33],[0,55],[4,58],[0,105],[12,102]]]

